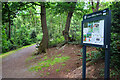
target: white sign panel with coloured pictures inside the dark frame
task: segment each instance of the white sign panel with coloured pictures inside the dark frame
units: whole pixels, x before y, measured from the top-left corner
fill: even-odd
[[[84,23],[83,43],[104,45],[104,20]]]

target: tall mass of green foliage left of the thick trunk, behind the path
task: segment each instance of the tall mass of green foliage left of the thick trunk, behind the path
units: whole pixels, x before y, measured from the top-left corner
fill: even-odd
[[[7,10],[5,5],[10,6],[9,9],[13,10],[10,13],[10,16],[15,15],[14,17],[10,17],[11,23],[11,38],[8,39],[9,33],[9,23],[8,23],[8,13],[3,10],[3,26],[2,26],[2,52],[5,53],[7,51],[17,49],[19,47],[33,44],[38,40],[41,40],[40,36],[38,38],[38,34],[41,32],[41,28],[39,27],[40,22],[39,16],[34,16],[36,10],[30,7],[30,3],[3,3],[3,9]],[[13,7],[14,6],[14,7]],[[16,10],[16,7],[21,7],[19,10]],[[24,9],[24,7],[26,8]],[[15,11],[14,11],[15,10]],[[9,12],[9,11],[8,11]],[[13,14],[12,13],[17,13]],[[39,27],[39,28],[38,28]]]

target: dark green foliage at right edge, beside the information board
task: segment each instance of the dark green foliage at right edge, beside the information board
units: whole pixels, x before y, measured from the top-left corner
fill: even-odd
[[[110,5],[110,10],[112,11],[112,28],[111,28],[111,64],[110,66],[114,68],[117,72],[120,72],[120,2],[112,2]],[[105,56],[104,49],[99,49],[102,53],[102,57]],[[117,74],[117,72],[111,75]]]

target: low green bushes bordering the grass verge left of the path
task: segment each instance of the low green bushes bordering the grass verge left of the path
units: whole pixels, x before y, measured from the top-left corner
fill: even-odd
[[[37,41],[36,33],[33,31],[30,34],[30,30],[24,25],[21,25],[19,29],[16,29],[14,34],[11,35],[11,39],[8,39],[6,26],[2,27],[2,52],[8,52],[20,48],[25,45],[30,45]]]

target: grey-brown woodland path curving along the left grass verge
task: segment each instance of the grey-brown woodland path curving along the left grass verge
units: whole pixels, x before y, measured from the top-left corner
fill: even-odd
[[[37,78],[34,72],[27,70],[26,58],[35,51],[35,45],[24,48],[2,59],[3,78]]]

